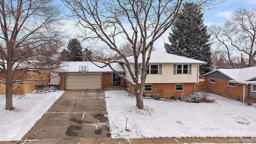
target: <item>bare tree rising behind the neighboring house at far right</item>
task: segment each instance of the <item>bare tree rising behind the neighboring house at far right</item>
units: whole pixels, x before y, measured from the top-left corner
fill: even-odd
[[[214,24],[209,27],[208,32],[212,34],[212,40],[217,44],[216,46],[225,50],[228,56],[225,60],[230,63],[232,68],[236,67],[232,61],[232,57],[234,57],[232,54],[235,51],[240,51],[247,55],[249,57],[248,66],[253,66],[256,56],[255,7],[251,10],[238,8],[224,26]]]

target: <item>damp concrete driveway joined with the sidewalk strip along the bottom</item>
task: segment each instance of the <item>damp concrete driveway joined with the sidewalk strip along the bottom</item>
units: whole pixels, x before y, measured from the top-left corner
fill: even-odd
[[[112,139],[104,90],[67,90],[21,141],[0,144],[256,143],[253,138]]]

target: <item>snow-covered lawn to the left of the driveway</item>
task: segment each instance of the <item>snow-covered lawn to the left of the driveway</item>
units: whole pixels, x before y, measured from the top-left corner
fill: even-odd
[[[63,93],[63,90],[59,90],[14,96],[15,109],[12,111],[5,110],[5,96],[0,95],[0,141],[21,140]]]

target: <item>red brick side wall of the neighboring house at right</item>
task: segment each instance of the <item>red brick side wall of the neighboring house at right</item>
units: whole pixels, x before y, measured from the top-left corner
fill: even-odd
[[[210,83],[210,78],[205,76],[205,89],[208,92],[211,92],[213,94],[218,94],[220,96],[228,96],[230,98],[236,99],[236,97],[239,98],[240,101],[243,101],[243,92],[244,92],[244,99],[248,98],[248,86],[245,86],[244,84],[238,84],[235,83],[235,87],[228,86],[228,80],[220,79],[220,78],[212,78],[215,79],[215,84]]]

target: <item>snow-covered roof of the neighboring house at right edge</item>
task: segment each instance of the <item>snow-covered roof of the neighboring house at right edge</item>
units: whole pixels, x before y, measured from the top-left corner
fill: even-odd
[[[256,83],[256,81],[249,81],[256,77],[256,67],[239,68],[239,69],[218,69],[212,72],[219,71],[228,76],[232,81],[239,83]],[[212,72],[208,72],[210,74]],[[207,75],[204,74],[203,76]]]

